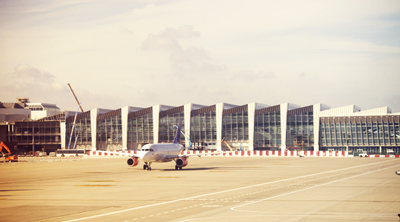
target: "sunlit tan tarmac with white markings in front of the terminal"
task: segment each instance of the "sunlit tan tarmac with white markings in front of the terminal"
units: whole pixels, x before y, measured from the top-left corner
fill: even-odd
[[[2,221],[399,221],[400,159],[30,159],[0,164]]]

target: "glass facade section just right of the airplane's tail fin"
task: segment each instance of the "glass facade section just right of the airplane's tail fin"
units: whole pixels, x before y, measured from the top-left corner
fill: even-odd
[[[190,118],[190,140],[192,143],[216,142],[217,119],[215,106],[192,111]]]

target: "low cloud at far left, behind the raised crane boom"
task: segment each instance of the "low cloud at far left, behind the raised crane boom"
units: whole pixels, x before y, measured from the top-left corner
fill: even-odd
[[[54,103],[61,110],[75,110],[76,102],[67,83],[62,83],[55,75],[27,64],[19,64],[14,70],[1,76],[6,79],[0,89],[2,101],[12,102],[17,97],[28,97],[31,102]],[[74,88],[75,94],[86,110],[96,107],[117,108],[122,105],[123,99],[115,99],[111,95],[102,95],[89,92],[87,89]],[[99,105],[98,101],[107,101]]]

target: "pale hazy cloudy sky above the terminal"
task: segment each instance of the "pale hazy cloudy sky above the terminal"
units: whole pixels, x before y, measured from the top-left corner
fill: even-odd
[[[400,1],[2,0],[0,101],[400,112]]]

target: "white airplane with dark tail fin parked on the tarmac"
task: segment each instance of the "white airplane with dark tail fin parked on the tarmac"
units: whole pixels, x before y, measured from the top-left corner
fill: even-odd
[[[180,132],[181,132],[181,119],[179,119],[178,128],[176,130],[176,135],[173,143],[158,143],[158,144],[146,144],[142,147],[138,154],[132,155],[127,163],[129,166],[137,166],[139,164],[139,159],[144,161],[143,170],[151,171],[151,164],[163,163],[175,161],[175,170],[182,170],[182,167],[187,166],[188,158],[190,156],[201,156],[205,154],[186,154],[180,155],[182,150],[185,149],[180,144]]]

